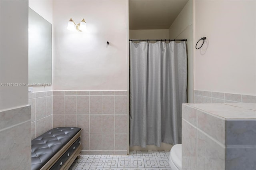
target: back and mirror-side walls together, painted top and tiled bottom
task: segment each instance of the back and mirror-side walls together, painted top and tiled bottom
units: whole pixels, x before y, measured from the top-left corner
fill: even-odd
[[[112,22],[113,17],[111,15],[113,14],[115,16],[117,13],[118,15],[122,13],[122,16],[121,18],[116,16],[116,19],[125,21],[125,17],[128,16],[128,13],[125,13],[128,4],[125,1],[118,3],[116,1],[105,1],[104,3],[105,6],[102,3],[99,4],[99,2],[92,1],[72,1],[72,3],[66,1],[66,4],[62,2],[54,2],[52,4],[51,2],[45,1],[38,1],[38,3],[34,0],[30,1],[30,7],[44,18],[50,20],[50,16],[54,14],[53,61],[56,62],[53,62],[53,75],[56,72],[60,73],[58,75],[61,75],[61,79],[65,81],[62,83],[58,82],[57,77],[53,78],[53,87],[59,91],[52,92],[51,87],[33,87],[36,93],[29,93],[29,104],[32,109],[31,138],[39,136],[52,127],[75,126],[83,128],[83,154],[127,154],[128,77],[126,75],[128,74],[128,61],[126,60],[128,51],[126,51],[124,42],[128,45],[126,41],[128,40],[128,37],[126,37],[128,36],[128,28],[127,32],[124,28],[127,26],[128,18],[127,23],[117,23],[114,25],[109,23]],[[115,7],[111,6],[113,3]],[[52,7],[54,6],[53,12],[48,14],[51,4]],[[86,9],[88,8],[87,12],[83,12],[86,11],[83,8],[80,12],[78,10],[77,14],[77,12],[70,9],[70,7],[78,9],[84,6]],[[108,16],[99,16],[99,14],[95,14],[95,10],[92,10],[98,7],[104,7],[104,10],[110,11],[113,11],[112,8],[117,8],[117,10],[114,10],[113,13],[108,12]],[[68,8],[71,12],[67,14],[65,8]],[[64,16],[68,16],[62,17],[62,13],[64,13]],[[79,16],[79,21],[85,18],[88,32],[77,32],[77,34],[76,32],[66,30],[66,25],[70,17],[76,22],[74,16]],[[104,17],[106,18],[104,19]],[[62,21],[63,24],[62,22],[61,24],[58,23],[58,21]],[[106,24],[104,29],[102,24]],[[112,28],[113,26],[115,29]],[[106,40],[106,36],[109,36],[110,39]],[[79,44],[74,44],[76,38],[80,40]],[[102,39],[104,43],[102,43]],[[59,40],[61,43],[58,43]],[[100,49],[98,50],[102,51],[101,56],[97,53],[98,50],[94,50],[98,47],[95,41],[100,43],[98,45]],[[110,45],[106,45],[105,41],[109,41]],[[88,45],[88,43],[91,44]],[[73,47],[68,49],[66,45]],[[78,48],[77,45],[80,46],[80,51],[75,50]],[[119,47],[119,45],[122,47]],[[58,48],[55,48],[56,46]],[[88,48],[84,48],[84,46]],[[70,55],[67,55],[68,53],[65,50],[78,53],[79,57],[72,56],[70,58]],[[62,53],[62,56],[59,56],[58,53]],[[67,61],[66,59],[68,59],[67,63],[65,63]],[[88,61],[85,62],[84,59]],[[76,66],[69,67],[74,65]],[[98,67],[99,65],[101,68]],[[64,69],[59,70],[59,67],[63,67]],[[67,72],[73,72],[73,75],[68,75]],[[78,75],[84,78],[82,79]],[[92,75],[96,75],[96,77],[92,77]],[[67,81],[68,79],[72,80],[69,82]],[[110,83],[109,86],[106,84],[107,82]],[[113,85],[113,83],[118,85]],[[60,91],[60,89],[71,91]],[[74,91],[75,89],[110,89],[113,91]],[[114,91],[120,89],[124,91]],[[96,113],[94,112],[95,109]]]

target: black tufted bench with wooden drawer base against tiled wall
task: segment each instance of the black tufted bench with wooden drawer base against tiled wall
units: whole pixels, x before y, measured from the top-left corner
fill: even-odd
[[[32,170],[68,169],[80,156],[81,128],[53,128],[31,141]]]

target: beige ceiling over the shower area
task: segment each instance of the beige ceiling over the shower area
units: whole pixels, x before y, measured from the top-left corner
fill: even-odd
[[[129,29],[168,29],[188,0],[129,0]]]

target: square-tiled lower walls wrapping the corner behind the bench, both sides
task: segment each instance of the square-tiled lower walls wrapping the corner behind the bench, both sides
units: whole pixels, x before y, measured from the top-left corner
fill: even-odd
[[[127,91],[28,93],[31,139],[54,127],[82,128],[82,154],[127,154]]]

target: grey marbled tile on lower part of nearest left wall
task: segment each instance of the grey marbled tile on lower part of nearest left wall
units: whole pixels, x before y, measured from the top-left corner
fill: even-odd
[[[0,112],[1,170],[31,169],[30,125],[29,105]]]

